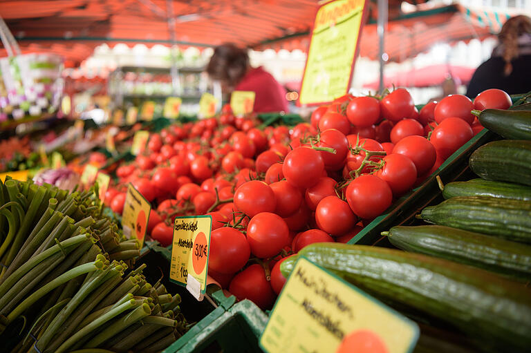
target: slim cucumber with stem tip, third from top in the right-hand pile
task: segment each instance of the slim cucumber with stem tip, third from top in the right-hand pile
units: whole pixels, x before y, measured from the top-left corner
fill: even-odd
[[[510,182],[494,182],[481,178],[467,182],[449,182],[443,187],[445,199],[456,196],[491,196],[493,198],[512,198],[531,201],[531,187]]]

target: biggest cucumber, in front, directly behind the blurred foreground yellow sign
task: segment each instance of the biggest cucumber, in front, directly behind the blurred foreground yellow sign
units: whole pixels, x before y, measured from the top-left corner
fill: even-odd
[[[284,276],[298,256],[395,307],[410,307],[454,325],[483,350],[524,352],[531,347],[531,290],[520,283],[432,256],[325,242],[284,260]]]

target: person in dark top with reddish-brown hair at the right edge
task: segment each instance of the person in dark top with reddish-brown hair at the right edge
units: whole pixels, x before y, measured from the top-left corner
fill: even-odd
[[[519,15],[507,19],[498,40],[490,59],[472,75],[467,97],[474,99],[488,88],[510,95],[531,90],[531,18]]]

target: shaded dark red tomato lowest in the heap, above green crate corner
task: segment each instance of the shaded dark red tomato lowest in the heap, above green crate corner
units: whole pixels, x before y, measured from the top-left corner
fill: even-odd
[[[236,274],[230,282],[229,292],[238,300],[251,300],[262,310],[270,309],[274,302],[273,289],[265,279],[263,267],[258,264],[250,265]]]

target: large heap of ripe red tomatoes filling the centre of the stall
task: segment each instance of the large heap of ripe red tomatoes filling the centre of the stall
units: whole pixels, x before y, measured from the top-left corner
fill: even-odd
[[[507,108],[501,97],[503,106],[488,107]],[[265,309],[286,280],[283,258],[351,240],[481,130],[470,112],[482,101],[451,95],[418,111],[404,88],[346,95],[291,129],[261,129],[225,108],[151,134],[146,151],[117,169],[122,191],[109,189],[106,202],[121,213],[131,182],[157,206],[148,231],[162,245],[176,216],[211,215],[209,276]]]

